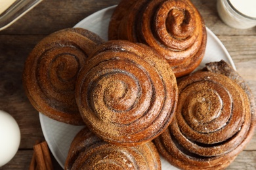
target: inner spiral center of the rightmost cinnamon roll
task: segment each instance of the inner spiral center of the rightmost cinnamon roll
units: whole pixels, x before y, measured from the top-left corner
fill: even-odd
[[[230,93],[216,82],[206,80],[190,84],[182,91],[179,102],[182,119],[200,133],[219,131],[230,119]]]

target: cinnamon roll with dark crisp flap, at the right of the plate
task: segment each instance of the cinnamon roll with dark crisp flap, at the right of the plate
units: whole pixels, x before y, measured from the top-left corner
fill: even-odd
[[[176,116],[154,142],[181,169],[224,169],[249,143],[255,101],[244,80],[225,61],[178,81]]]

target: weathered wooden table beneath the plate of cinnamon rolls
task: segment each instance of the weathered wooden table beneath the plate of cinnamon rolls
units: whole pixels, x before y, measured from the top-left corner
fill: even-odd
[[[116,5],[120,0],[44,0],[20,20],[0,31],[0,110],[9,112],[21,131],[20,148],[14,158],[0,169],[28,169],[35,141],[45,141],[39,115],[22,88],[24,61],[41,39],[66,27],[73,27],[97,10]],[[237,71],[256,96],[256,27],[233,29],[221,22],[216,0],[192,0],[205,24],[232,56]],[[61,169],[56,160],[54,169]],[[256,169],[256,135],[228,169]]]

